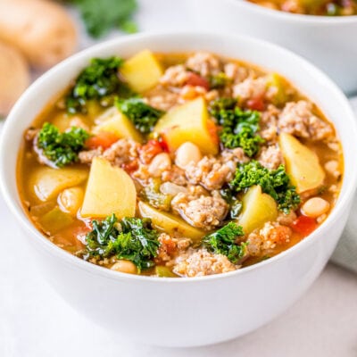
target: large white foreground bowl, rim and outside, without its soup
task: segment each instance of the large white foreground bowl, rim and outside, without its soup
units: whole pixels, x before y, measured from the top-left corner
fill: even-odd
[[[22,133],[92,57],[208,50],[278,71],[332,120],[345,152],[345,179],[324,224],[298,245],[251,267],[203,278],[126,275],[84,262],[42,236],[24,212],[16,186]],[[345,95],[323,73],[295,54],[249,37],[151,34],[122,37],[60,63],[22,95],[4,125],[0,182],[4,199],[23,228],[29,257],[74,309],[128,338],[151,345],[194,346],[246,334],[274,319],[303,294],[328,262],[345,226],[357,181],[356,123]],[[71,323],[71,321],[69,321]]]

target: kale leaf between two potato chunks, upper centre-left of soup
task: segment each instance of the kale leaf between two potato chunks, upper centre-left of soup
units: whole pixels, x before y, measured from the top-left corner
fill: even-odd
[[[164,112],[145,104],[140,98],[118,99],[115,104],[120,112],[131,120],[135,128],[143,134],[149,134]]]

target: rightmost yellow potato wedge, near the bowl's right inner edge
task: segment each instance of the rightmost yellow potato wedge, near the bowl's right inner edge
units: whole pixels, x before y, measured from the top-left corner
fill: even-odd
[[[286,162],[286,172],[298,193],[323,184],[325,172],[317,154],[287,133],[280,133],[279,145]]]

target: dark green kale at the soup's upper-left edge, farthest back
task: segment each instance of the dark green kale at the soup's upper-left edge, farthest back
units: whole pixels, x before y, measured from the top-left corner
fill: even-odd
[[[87,101],[91,99],[112,100],[112,96],[115,95],[134,95],[118,76],[118,70],[123,62],[120,57],[93,58],[90,65],[80,72],[71,93],[66,97],[67,111],[87,112]]]

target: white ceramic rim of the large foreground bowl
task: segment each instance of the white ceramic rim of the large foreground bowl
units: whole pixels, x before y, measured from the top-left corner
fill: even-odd
[[[26,213],[22,208],[20,208],[16,203],[15,203],[15,198],[12,197],[10,194],[10,180],[6,179],[5,172],[8,170],[8,167],[6,166],[6,152],[11,147],[12,142],[11,138],[8,136],[8,133],[11,132],[16,128],[16,123],[15,123],[15,117],[18,111],[20,111],[20,108],[22,105],[25,105],[28,101],[28,98],[30,95],[32,95],[33,92],[37,92],[38,88],[43,86],[44,83],[48,82],[52,77],[54,77],[54,74],[57,71],[63,71],[65,68],[76,64],[77,62],[80,62],[81,58],[84,56],[87,56],[87,54],[91,54],[92,52],[100,52],[106,49],[107,47],[115,47],[115,46],[125,46],[125,44],[129,44],[132,41],[135,41],[137,39],[142,40],[146,38],[150,39],[157,39],[160,40],[161,38],[167,38],[170,37],[172,40],[181,40],[181,41],[189,41],[191,37],[213,37],[213,38],[229,38],[230,40],[234,41],[239,40],[241,42],[249,42],[253,43],[254,46],[261,46],[264,47],[265,49],[269,50],[274,50],[275,52],[278,52],[281,54],[281,57],[283,58],[284,56],[290,56],[291,58],[294,58],[296,62],[299,62],[299,66],[303,71],[309,71],[311,72],[311,75],[315,79],[322,80],[326,86],[328,86],[331,90],[333,90],[334,95],[338,97],[339,101],[344,104],[345,106],[345,112],[349,112],[349,115],[344,118],[344,120],[348,121],[348,124],[350,127],[350,131],[354,132],[354,137],[357,137],[357,125],[354,120],[354,114],[352,112],[352,109],[350,105],[348,104],[348,101],[345,98],[345,95],[341,92],[341,90],[336,87],[336,85],[328,79],[328,77],[319,69],[314,67],[310,62],[305,61],[303,58],[300,56],[293,54],[292,52],[277,46],[270,44],[266,41],[262,41],[253,37],[246,37],[246,36],[238,36],[238,35],[232,35],[232,34],[214,34],[214,33],[209,33],[209,32],[165,32],[165,33],[150,33],[150,34],[136,34],[136,35],[130,35],[126,37],[120,37],[116,39],[112,39],[110,41],[106,41],[102,44],[92,46],[84,51],[79,52],[79,54],[75,54],[68,58],[67,60],[57,64],[54,66],[53,69],[50,71],[47,71],[43,76],[41,76],[39,79],[37,79],[28,89],[27,91],[21,96],[20,100],[15,104],[15,106],[12,108],[12,112],[9,114],[8,119],[5,121],[4,128],[3,128],[3,133],[0,139],[0,188],[3,193],[3,197],[5,202],[7,203],[8,207],[12,211],[12,214],[16,217],[17,220],[20,220],[21,226],[26,229],[26,231],[29,232],[30,239],[37,239],[37,243],[39,243],[44,249],[49,251],[49,253],[57,255],[59,258],[62,259],[63,262],[66,262],[67,264],[70,265],[75,265],[79,269],[82,270],[87,270],[87,272],[90,272],[95,275],[100,275],[104,278],[111,278],[111,279],[117,279],[117,280],[132,280],[132,279],[138,279],[145,282],[150,282],[150,281],[156,281],[157,283],[161,284],[184,284],[184,283],[191,283],[191,284],[198,284],[198,283],[204,283],[208,282],[209,280],[215,280],[215,279],[222,279],[222,278],[232,278],[240,274],[248,274],[252,270],[258,270],[258,269],[264,269],[265,265],[270,264],[272,262],[276,262],[280,259],[283,259],[286,257],[286,255],[292,255],[299,253],[301,250],[306,245],[310,245],[311,242],[318,238],[317,236],[322,236],[322,233],[325,231],[328,231],[328,228],[330,228],[335,222],[336,219],[338,218],[338,212],[341,210],[341,208],[345,205],[345,203],[349,200],[349,197],[353,196],[356,184],[357,184],[357,167],[356,165],[353,165],[351,168],[351,172],[349,174],[348,180],[344,180],[340,195],[338,197],[338,200],[336,202],[336,205],[334,207],[334,210],[328,215],[328,219],[325,220],[325,222],[317,228],[309,237],[306,237],[303,239],[303,241],[299,242],[298,244],[294,245],[293,247],[287,249],[286,251],[279,253],[278,255],[270,258],[269,260],[259,262],[257,264],[254,264],[252,266],[248,266],[244,269],[241,270],[235,270],[232,272],[228,273],[223,273],[223,274],[217,274],[217,275],[212,275],[212,276],[205,276],[205,277],[196,277],[196,278],[158,278],[158,277],[146,277],[146,276],[137,276],[137,275],[130,275],[130,274],[125,274],[125,273],[120,273],[116,271],[112,271],[100,266],[97,266],[95,264],[92,264],[90,262],[85,262],[78,257],[75,257],[71,253],[68,253],[64,251],[62,248],[58,247],[57,245],[54,245],[52,242],[50,242],[45,236],[43,236],[37,228],[31,223],[29,218],[27,217]],[[185,42],[186,43],[186,42]],[[312,74],[313,73],[313,74]],[[62,88],[59,88],[58,92],[60,92]],[[16,148],[18,150],[19,148]],[[15,169],[15,168],[12,168]],[[32,237],[32,235],[34,237]]]

